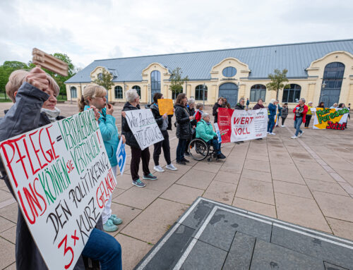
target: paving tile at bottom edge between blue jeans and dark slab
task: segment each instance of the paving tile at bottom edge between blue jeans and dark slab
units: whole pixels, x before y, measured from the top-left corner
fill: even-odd
[[[121,259],[124,270],[132,270],[152,248],[152,245],[148,245],[148,243],[122,235],[121,233],[116,235],[116,240],[121,245]]]

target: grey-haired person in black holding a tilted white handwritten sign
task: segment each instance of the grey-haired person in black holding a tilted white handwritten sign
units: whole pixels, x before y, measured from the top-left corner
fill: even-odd
[[[121,112],[121,133],[126,137],[126,145],[131,147],[131,162],[130,170],[132,177],[132,184],[138,188],[144,188],[146,186],[138,176],[138,168],[140,167],[140,160],[142,160],[143,179],[145,180],[157,180],[156,176],[150,173],[148,164],[150,163],[150,149],[147,147],[143,150],[140,149],[140,145],[133,135],[128,122],[126,120],[125,111],[139,110],[140,109],[140,97],[135,89],[126,91],[126,104],[124,105],[123,111]]]

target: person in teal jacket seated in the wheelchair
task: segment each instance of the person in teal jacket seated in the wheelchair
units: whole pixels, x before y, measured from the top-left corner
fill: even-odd
[[[225,159],[225,155],[222,154],[220,150],[220,143],[218,143],[218,137],[215,131],[213,131],[213,126],[210,123],[210,115],[208,113],[203,113],[201,116],[201,121],[198,121],[196,125],[196,137],[201,138],[208,145],[213,145],[213,149],[217,154],[217,159]]]

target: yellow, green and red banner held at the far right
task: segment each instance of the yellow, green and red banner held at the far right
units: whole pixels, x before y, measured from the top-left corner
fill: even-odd
[[[347,108],[311,108],[311,111],[313,112],[313,129],[345,130],[349,114]]]

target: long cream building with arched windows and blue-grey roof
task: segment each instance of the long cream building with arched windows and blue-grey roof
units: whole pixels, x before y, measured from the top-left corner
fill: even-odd
[[[169,90],[174,68],[189,78],[183,85],[187,97],[209,105],[218,97],[227,97],[233,107],[240,97],[249,98],[251,106],[259,98],[268,104],[276,97],[266,89],[268,74],[276,68],[288,70],[288,86],[278,92],[281,104],[293,107],[301,97],[314,106],[353,103],[353,39],[96,60],[66,81],[67,97],[78,99],[106,69],[114,82],[110,102],[124,102],[131,88],[143,103],[155,92],[174,98]]]

